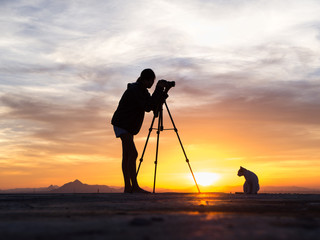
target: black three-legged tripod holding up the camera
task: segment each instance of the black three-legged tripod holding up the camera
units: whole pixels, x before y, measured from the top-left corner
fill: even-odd
[[[173,128],[170,128],[170,129],[164,129],[163,128],[163,104],[166,106],[166,109],[167,109],[167,112],[169,114],[169,117],[171,119],[171,122],[172,122],[172,125],[173,125]],[[158,128],[153,128],[153,124],[154,124],[154,121],[155,119],[158,118]],[[188,166],[189,166],[189,169],[190,169],[190,172],[192,174],[192,177],[193,177],[193,180],[197,186],[197,189],[198,189],[198,192],[200,193],[200,189],[199,189],[199,186],[197,184],[197,181],[196,181],[196,178],[194,177],[194,174],[193,174],[193,171],[191,169],[191,165],[189,163],[189,159],[187,157],[187,154],[184,150],[184,147],[182,145],[182,142],[181,142],[181,139],[180,139],[180,136],[178,134],[178,129],[176,128],[176,125],[174,124],[174,121],[173,121],[173,118],[171,116],[171,113],[169,111],[169,108],[168,108],[168,105],[166,103],[166,101],[164,100],[163,103],[159,106],[158,110],[156,112],[154,112],[154,116],[153,116],[153,119],[152,119],[152,122],[151,122],[151,126],[149,128],[149,133],[148,133],[148,136],[147,136],[147,140],[146,140],[146,143],[144,145],[144,148],[143,148],[143,152],[142,152],[142,155],[141,155],[141,158],[140,158],[140,163],[139,163],[139,166],[138,166],[138,170],[137,170],[137,174],[136,174],[136,177],[138,176],[138,173],[139,173],[139,170],[140,170],[140,166],[141,166],[141,163],[143,162],[143,157],[144,157],[144,154],[145,154],[145,151],[146,151],[146,148],[147,148],[147,144],[148,144],[148,141],[149,141],[149,137],[150,137],[150,134],[152,132],[152,130],[155,129],[157,130],[157,147],[156,147],[156,159],[154,161],[154,164],[155,164],[155,169],[154,169],[154,181],[153,181],[153,193],[155,193],[155,187],[156,187],[156,176],[157,176],[157,164],[158,164],[158,153],[159,153],[159,140],[160,140],[160,132],[163,131],[163,130],[174,130],[177,134],[177,137],[178,137],[178,140],[179,140],[179,143],[180,143],[180,146],[182,148],[182,151],[183,151],[183,154],[186,158],[186,162],[188,163]]]

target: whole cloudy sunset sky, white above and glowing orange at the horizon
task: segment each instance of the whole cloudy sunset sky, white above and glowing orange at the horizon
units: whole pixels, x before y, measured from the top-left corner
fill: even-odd
[[[110,121],[144,68],[176,82],[168,106],[211,191],[242,185],[240,166],[261,186],[320,189],[319,13],[318,0],[0,1],[0,189],[122,186]],[[159,150],[157,186],[193,187],[174,132]]]

